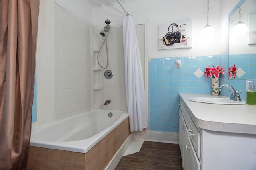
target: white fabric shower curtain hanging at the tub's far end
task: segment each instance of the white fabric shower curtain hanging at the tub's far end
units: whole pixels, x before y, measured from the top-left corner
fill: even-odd
[[[148,113],[136,29],[130,15],[123,21],[123,43],[130,131],[142,131],[148,127]]]

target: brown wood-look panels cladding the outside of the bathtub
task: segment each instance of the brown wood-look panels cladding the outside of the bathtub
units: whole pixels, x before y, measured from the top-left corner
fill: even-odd
[[[87,153],[30,146],[27,170],[104,170],[129,135],[126,118]]]

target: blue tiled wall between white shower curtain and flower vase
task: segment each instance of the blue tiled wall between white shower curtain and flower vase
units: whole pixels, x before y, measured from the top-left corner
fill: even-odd
[[[222,57],[225,61],[225,56]],[[149,62],[150,131],[178,133],[178,94],[211,94],[210,79],[206,80],[205,75],[198,78],[194,72],[198,68],[204,72],[208,65],[218,65],[219,58],[219,56],[175,57],[152,59]],[[175,67],[176,60],[181,60],[181,68]]]

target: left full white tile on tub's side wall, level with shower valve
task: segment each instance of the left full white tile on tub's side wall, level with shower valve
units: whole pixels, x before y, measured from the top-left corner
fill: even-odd
[[[77,66],[61,64],[61,89],[77,88]]]

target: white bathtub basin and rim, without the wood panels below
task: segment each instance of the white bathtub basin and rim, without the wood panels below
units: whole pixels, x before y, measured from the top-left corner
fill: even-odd
[[[116,110],[92,110],[68,117],[32,129],[30,146],[86,153],[127,117],[128,113]]]

